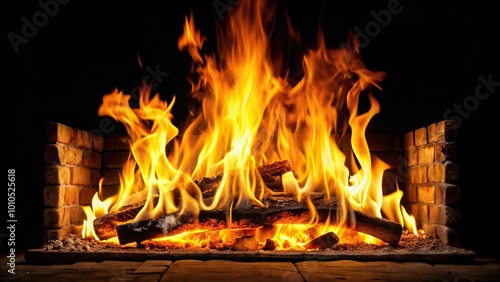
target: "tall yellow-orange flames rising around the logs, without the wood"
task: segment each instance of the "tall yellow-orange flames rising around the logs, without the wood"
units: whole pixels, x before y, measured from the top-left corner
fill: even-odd
[[[389,198],[382,194],[382,176],[389,166],[371,155],[365,138],[370,120],[380,111],[370,89],[380,88],[385,73],[365,67],[355,39],[352,48],[329,49],[320,37],[318,47],[303,55],[302,78],[292,84],[288,72],[280,75],[284,62],[270,53],[268,27],[274,10],[266,4],[243,1],[231,13],[225,28],[218,30],[217,54],[203,53],[205,38],[193,14],[186,17],[178,47],[192,57],[190,95],[199,110],[191,113],[182,135],[172,123],[175,97],[162,101],[158,93],[151,95],[149,85],[142,87],[137,108],[129,106],[131,95],[118,89],[103,97],[98,114],[123,123],[131,140],[120,192],[104,212],[137,194],[144,195],[146,204],[134,221],[224,209],[226,230],[191,230],[161,240],[198,246],[232,241],[238,232],[231,229],[231,211],[264,207],[263,197],[272,193],[262,188],[255,168],[288,160],[294,172],[282,175],[283,187],[297,201],[320,192],[372,216],[382,217],[384,211],[416,233],[414,219],[400,207],[402,192]],[[366,112],[359,110],[361,97],[370,103]],[[346,140],[350,155],[341,148]],[[167,154],[169,143],[174,150]],[[195,180],[216,175],[222,175],[220,184],[213,198],[204,199]],[[98,216],[98,204],[96,200],[86,210],[87,223]],[[320,222],[310,201],[309,209],[307,219],[284,219],[272,230],[254,230],[254,235],[261,243],[270,238],[287,249],[301,248],[328,231],[346,232],[347,209],[337,210],[326,222]],[[95,236],[91,228],[84,228],[83,235]],[[365,240],[373,242],[370,236]]]

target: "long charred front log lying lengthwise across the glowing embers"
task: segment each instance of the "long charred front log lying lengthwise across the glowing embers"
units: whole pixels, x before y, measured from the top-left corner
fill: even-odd
[[[231,213],[232,220],[248,221],[255,226],[269,226],[277,223],[303,223],[306,222],[310,209],[306,202],[296,202],[291,197],[279,196],[269,197],[265,200],[267,207],[253,207],[250,209],[235,209]],[[289,198],[290,200],[285,200]],[[317,214],[320,221],[325,221],[335,214],[338,209],[338,202],[327,200],[321,194],[312,195],[312,201],[315,203]],[[351,210],[353,219],[347,220],[347,228],[362,232],[387,242],[392,247],[397,247],[401,238],[403,228],[400,224],[378,217],[370,216],[366,213]],[[225,220],[227,218],[226,210],[207,210],[200,211],[197,221],[200,223],[210,220]],[[330,218],[331,219],[331,218]],[[193,222],[194,217],[184,214],[182,219],[176,215],[169,214],[156,219],[142,220],[133,223],[126,223],[116,227],[118,240],[120,244],[137,242],[167,236],[183,224]],[[227,228],[221,226],[220,229]],[[338,242],[338,241],[337,241]]]

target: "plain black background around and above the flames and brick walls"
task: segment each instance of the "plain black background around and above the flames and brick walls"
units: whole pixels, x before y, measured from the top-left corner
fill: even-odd
[[[394,1],[278,1],[277,28],[284,27],[286,8],[302,36],[301,46],[284,46],[283,50],[299,56],[294,51],[314,47],[319,25],[327,45],[338,47],[349,29],[364,30],[375,20],[372,11],[387,10]],[[16,53],[8,35],[22,36],[22,18],[32,22],[42,9],[37,1],[10,2],[14,3],[4,3],[2,9],[1,147],[4,173],[8,168],[16,170],[17,247],[29,249],[43,244],[46,122],[99,130],[103,117],[97,116],[97,109],[102,96],[115,87],[130,93],[147,75],[139,57],[143,66],[159,66],[169,73],[157,90],[169,102],[176,96],[174,115],[176,121],[182,121],[191,63],[187,53],[177,48],[184,17],[193,11],[197,27],[208,38],[207,50],[215,49],[215,24],[223,24],[225,19],[219,18],[213,0],[68,1]],[[450,118],[445,113],[455,106],[467,106],[467,116],[460,118],[458,140],[463,247],[479,254],[498,254],[494,113],[499,83],[488,98],[474,98],[479,76],[500,82],[498,11],[493,4],[478,1],[399,3],[402,11],[391,15],[361,49],[369,69],[387,72],[383,91],[376,93],[381,113],[373,124],[378,130],[404,133]],[[231,11],[220,13],[226,17]],[[291,59],[290,68],[296,66]],[[6,193],[5,187],[2,199]],[[3,201],[2,213],[6,214],[7,201]],[[6,215],[2,218],[5,222]],[[7,233],[5,230],[0,233]]]

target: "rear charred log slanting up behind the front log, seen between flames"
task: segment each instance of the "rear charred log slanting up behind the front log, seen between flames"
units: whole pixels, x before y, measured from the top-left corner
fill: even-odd
[[[269,165],[259,166],[257,167],[257,171],[262,177],[262,180],[267,188],[273,191],[282,191],[283,184],[281,181],[281,175],[285,172],[293,171],[293,169],[290,162],[283,160]],[[221,180],[222,175],[217,175],[215,177],[203,177],[201,179],[197,179],[194,183],[200,188],[204,198],[210,198],[215,194]],[[174,193],[177,191],[178,189],[174,190]],[[177,197],[179,197],[179,195],[177,195]],[[154,205],[158,202],[158,198],[158,195],[153,197]],[[142,199],[137,202],[125,205],[117,210],[109,212],[106,215],[96,218],[93,225],[97,237],[101,240],[106,240],[117,236],[116,227],[132,221],[145,204],[146,199],[142,197]]]

